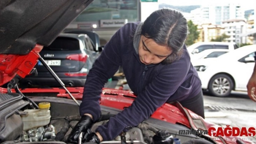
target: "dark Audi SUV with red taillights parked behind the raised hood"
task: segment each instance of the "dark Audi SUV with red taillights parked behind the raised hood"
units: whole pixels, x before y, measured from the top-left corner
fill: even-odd
[[[85,34],[60,34],[40,56],[55,71],[62,82],[69,87],[83,87],[86,75],[99,56],[92,41]],[[49,71],[38,61],[37,75],[29,75],[20,80],[24,87],[60,87]]]

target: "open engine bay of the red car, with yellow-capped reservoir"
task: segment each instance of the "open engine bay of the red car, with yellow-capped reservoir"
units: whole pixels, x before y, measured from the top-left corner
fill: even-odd
[[[1,93],[0,100],[1,144],[65,144],[68,143],[67,138],[72,128],[81,118],[78,105],[73,100],[66,98],[25,97],[18,93]],[[94,123],[92,131],[95,131],[99,125],[104,125],[110,117],[121,111],[107,106],[101,106],[101,110],[101,118]],[[182,125],[149,118],[136,127],[126,128],[126,131],[123,131],[114,140],[102,141],[101,144],[152,144],[153,136],[159,130],[167,131],[172,138],[180,139],[181,142],[206,141],[196,135],[179,135],[178,131],[181,129],[188,130]]]

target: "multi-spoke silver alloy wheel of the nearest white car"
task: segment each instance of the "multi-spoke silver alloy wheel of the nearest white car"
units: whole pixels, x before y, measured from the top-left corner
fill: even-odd
[[[232,79],[226,74],[217,74],[209,82],[209,92],[214,96],[225,97],[230,95],[233,88]]]

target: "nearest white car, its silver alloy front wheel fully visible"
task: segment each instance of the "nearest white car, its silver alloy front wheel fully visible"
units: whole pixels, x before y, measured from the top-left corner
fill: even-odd
[[[202,89],[214,96],[228,96],[231,90],[247,91],[246,85],[255,65],[256,45],[247,45],[217,58],[192,61],[202,82]]]

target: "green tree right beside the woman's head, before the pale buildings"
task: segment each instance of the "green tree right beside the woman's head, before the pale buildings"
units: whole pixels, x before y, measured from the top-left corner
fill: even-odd
[[[194,25],[191,20],[188,21],[188,37],[185,41],[186,45],[192,45],[195,43],[195,40],[198,39],[200,32],[197,31],[197,25]]]

